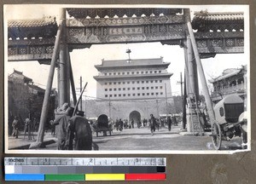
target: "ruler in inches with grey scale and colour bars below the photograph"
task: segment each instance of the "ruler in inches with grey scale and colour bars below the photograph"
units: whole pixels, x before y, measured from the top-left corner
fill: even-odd
[[[4,158],[5,181],[166,180],[166,158]]]

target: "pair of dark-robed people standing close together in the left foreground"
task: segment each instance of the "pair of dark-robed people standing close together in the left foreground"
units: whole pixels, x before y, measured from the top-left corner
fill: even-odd
[[[84,112],[74,112],[74,108],[65,103],[55,112],[54,124],[58,125],[58,150],[91,150],[92,132]]]

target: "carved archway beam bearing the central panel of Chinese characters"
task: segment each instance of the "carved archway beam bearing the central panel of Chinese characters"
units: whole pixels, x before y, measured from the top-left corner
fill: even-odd
[[[67,43],[127,43],[183,39],[182,26],[167,25],[67,28]],[[72,31],[70,31],[72,30]],[[73,34],[73,32],[78,32]]]

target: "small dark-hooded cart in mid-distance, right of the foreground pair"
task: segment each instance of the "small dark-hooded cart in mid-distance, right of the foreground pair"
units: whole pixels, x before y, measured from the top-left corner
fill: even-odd
[[[108,124],[108,116],[105,114],[102,114],[97,118],[96,126],[93,128],[96,132],[96,136],[99,135],[99,132],[103,132],[104,136],[107,136],[107,132],[109,132],[109,135],[111,135],[111,132],[113,131],[112,125]]]

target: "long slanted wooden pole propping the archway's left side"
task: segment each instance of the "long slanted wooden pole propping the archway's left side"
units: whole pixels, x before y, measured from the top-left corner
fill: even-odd
[[[49,103],[49,95],[50,95],[50,91],[51,91],[51,87],[52,87],[52,83],[53,83],[53,78],[55,75],[55,63],[56,63],[57,55],[58,55],[59,49],[60,49],[62,28],[63,28],[63,22],[61,21],[60,26],[57,31],[57,35],[56,35],[56,39],[55,39],[55,48],[53,50],[53,55],[52,55],[50,67],[49,67],[49,76],[48,76],[47,86],[46,86],[45,93],[44,93],[44,102],[43,102],[43,107],[42,107],[42,112],[41,112],[41,117],[40,117],[40,124],[39,124],[39,128],[38,128],[38,137],[37,137],[37,141],[33,142],[30,145],[30,147],[29,147],[30,149],[37,148],[37,147],[44,147],[44,145],[42,144],[44,141],[44,125],[45,125],[45,122],[47,119],[48,106],[49,106],[49,104],[48,104]]]

